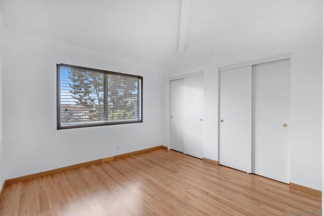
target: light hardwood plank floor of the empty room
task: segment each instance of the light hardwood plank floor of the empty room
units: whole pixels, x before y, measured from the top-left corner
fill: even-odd
[[[6,187],[0,215],[320,215],[284,183],[163,149]]]

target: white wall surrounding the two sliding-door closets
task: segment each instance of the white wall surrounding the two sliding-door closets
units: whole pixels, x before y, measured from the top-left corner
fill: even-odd
[[[298,1],[282,13],[223,32],[234,35],[230,41],[215,35],[170,58],[163,142],[170,142],[169,77],[205,71],[204,157],[218,160],[218,67],[291,52],[290,182],[321,190],[322,1]]]

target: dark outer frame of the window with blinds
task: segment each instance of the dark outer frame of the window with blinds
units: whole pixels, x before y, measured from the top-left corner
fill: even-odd
[[[67,68],[67,69],[76,69],[76,70],[85,70],[89,72],[94,73],[101,73],[106,75],[120,75],[120,76],[126,76],[126,77],[133,77],[141,80],[141,86],[139,88],[140,94],[140,105],[138,105],[138,108],[141,110],[140,112],[140,120],[133,120],[133,121],[127,121],[127,120],[120,120],[120,121],[114,121],[114,122],[100,122],[100,123],[89,123],[89,124],[75,124],[75,125],[61,125],[61,67]],[[96,127],[96,126],[105,126],[105,125],[119,125],[119,124],[132,124],[132,123],[143,123],[143,77],[137,76],[137,75],[131,75],[131,74],[123,74],[118,73],[114,71],[108,71],[108,70],[101,70],[101,69],[94,69],[89,67],[82,67],[82,66],[75,66],[75,65],[69,65],[69,64],[56,64],[56,116],[57,116],[57,130],[61,129],[70,129],[70,128],[84,128],[84,127]],[[107,101],[107,99],[106,99]]]

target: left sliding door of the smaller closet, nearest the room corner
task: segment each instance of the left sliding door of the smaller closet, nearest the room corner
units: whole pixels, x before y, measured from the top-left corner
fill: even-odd
[[[170,148],[183,152],[184,90],[183,79],[170,82]]]

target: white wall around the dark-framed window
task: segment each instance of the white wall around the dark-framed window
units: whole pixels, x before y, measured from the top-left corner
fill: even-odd
[[[9,30],[3,53],[6,179],[162,144],[159,66]],[[57,63],[143,76],[143,123],[57,130]]]

